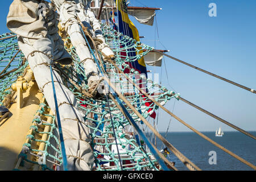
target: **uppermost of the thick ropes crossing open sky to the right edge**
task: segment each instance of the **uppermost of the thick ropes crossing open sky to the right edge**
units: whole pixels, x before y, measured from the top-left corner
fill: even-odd
[[[170,57],[171,59],[173,59],[173,60],[175,60],[175,61],[178,61],[179,63],[188,65],[189,67],[192,67],[192,68],[195,68],[195,69],[197,69],[197,70],[199,70],[199,71],[201,71],[201,72],[207,73],[207,74],[210,75],[210,76],[219,78],[220,80],[223,80],[223,81],[226,81],[226,82],[229,82],[230,84],[236,85],[236,86],[238,86],[238,87],[240,87],[240,88],[242,88],[242,89],[248,90],[248,91],[250,91],[250,92],[252,92],[252,93],[256,93],[256,90],[254,90],[254,89],[247,88],[246,86],[243,86],[243,85],[241,85],[241,84],[238,84],[238,83],[236,83],[236,82],[233,82],[233,81],[231,81],[231,80],[228,80],[228,79],[226,79],[226,78],[224,78],[224,77],[215,75],[214,73],[210,73],[210,72],[208,72],[208,71],[206,71],[206,70],[204,70],[204,69],[198,68],[198,67],[196,67],[196,66],[194,66],[194,65],[192,65],[192,64],[186,63],[185,61],[179,60],[179,59],[177,59],[176,57],[172,57],[172,56],[167,55],[166,53],[160,52],[160,51],[158,51],[158,50],[156,50],[156,49],[154,49],[154,51],[156,51],[156,52],[158,52],[158,53],[160,53],[160,54],[162,54],[162,55],[164,55],[164,56]]]

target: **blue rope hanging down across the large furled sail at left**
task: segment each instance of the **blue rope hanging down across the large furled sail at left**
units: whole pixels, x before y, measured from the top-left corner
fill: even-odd
[[[63,168],[64,168],[64,171],[68,171],[67,155],[66,155],[66,151],[65,151],[63,133],[62,133],[62,129],[61,129],[60,113],[59,113],[59,107],[57,105],[56,90],[55,90],[55,85],[54,85],[54,81],[53,81],[52,65],[51,64],[50,64],[50,69],[51,69],[51,78],[52,78],[53,97],[54,97],[54,102],[55,102],[58,130],[59,130],[59,135],[60,135],[60,146],[61,146],[61,153],[62,153],[62,158],[63,158]]]

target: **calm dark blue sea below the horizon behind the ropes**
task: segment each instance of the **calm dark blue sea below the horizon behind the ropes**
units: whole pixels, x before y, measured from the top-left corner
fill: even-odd
[[[256,131],[251,131],[250,133],[254,136],[256,135]],[[162,136],[165,135],[165,133],[161,134]],[[256,141],[254,139],[236,131],[227,131],[222,137],[215,137],[215,132],[203,132],[203,134],[256,166]],[[195,133],[172,132],[167,134],[166,139],[202,170],[253,170]],[[157,140],[157,147],[159,150],[163,148],[160,140]],[[210,151],[216,151],[217,164],[209,164]],[[172,152],[170,154],[170,160],[175,162],[177,169],[188,170]]]

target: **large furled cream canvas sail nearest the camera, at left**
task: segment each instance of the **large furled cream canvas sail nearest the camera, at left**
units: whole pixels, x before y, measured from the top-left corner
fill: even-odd
[[[43,90],[44,97],[55,113],[51,71],[49,64],[52,58],[61,59],[69,56],[63,47],[63,42],[57,34],[55,11],[47,4],[46,22],[38,15],[38,1],[14,0],[7,16],[7,27],[18,35],[19,48],[27,57],[30,68],[34,72],[36,83]],[[47,30],[48,29],[48,30]],[[34,52],[31,54],[31,52]],[[39,52],[40,51],[40,52]],[[53,55],[53,57],[49,57]],[[90,147],[90,130],[77,110],[75,95],[64,86],[60,75],[53,70],[53,82],[57,93],[60,122],[63,130],[65,151],[69,170],[91,170],[94,163]]]

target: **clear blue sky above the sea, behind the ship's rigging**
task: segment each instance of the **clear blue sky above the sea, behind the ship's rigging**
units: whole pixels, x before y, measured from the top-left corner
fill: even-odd
[[[6,15],[11,2],[1,2],[1,33],[9,31]],[[208,5],[212,2],[217,5],[217,17],[208,15]],[[146,37],[141,40],[143,43],[156,49],[166,47],[171,56],[256,90],[255,0],[131,0],[130,6],[162,8],[156,14],[159,39],[156,23],[151,27],[131,18],[139,34]],[[181,97],[244,130],[256,130],[256,94],[169,58],[165,62],[167,74],[165,67],[162,71],[148,67],[162,73],[162,85],[174,88]],[[174,101],[170,101],[165,106],[172,111],[173,105]],[[159,113],[158,129],[166,131],[170,116],[164,111]],[[176,102],[174,114],[199,131],[215,131],[218,127],[224,132],[233,131],[183,101]],[[190,130],[172,119],[170,131]]]

